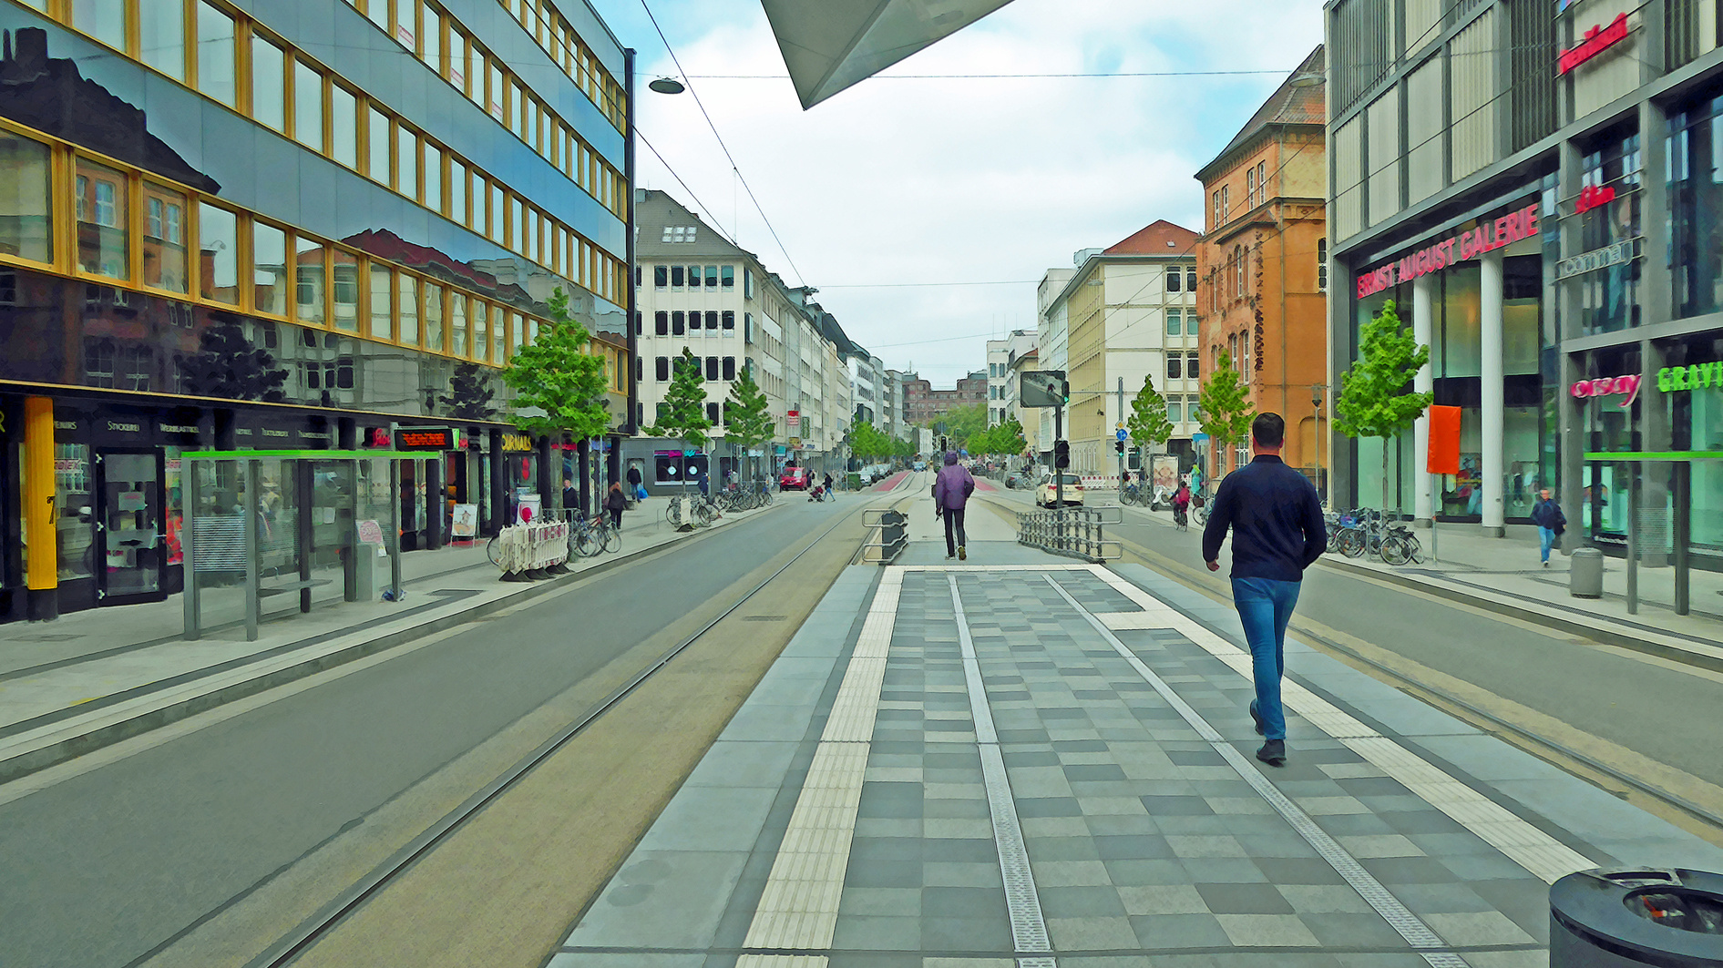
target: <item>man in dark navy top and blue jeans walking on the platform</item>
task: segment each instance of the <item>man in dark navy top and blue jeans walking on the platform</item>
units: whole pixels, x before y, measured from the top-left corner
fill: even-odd
[[[1256,758],[1272,766],[1287,760],[1287,722],[1280,708],[1287,622],[1297,605],[1304,568],[1328,546],[1322,501],[1308,477],[1280,460],[1287,424],[1278,413],[1251,422],[1251,463],[1222,479],[1203,529],[1203,562],[1220,570],[1220,543],[1232,531],[1232,605],[1251,646],[1256,699],[1251,718],[1263,746]]]

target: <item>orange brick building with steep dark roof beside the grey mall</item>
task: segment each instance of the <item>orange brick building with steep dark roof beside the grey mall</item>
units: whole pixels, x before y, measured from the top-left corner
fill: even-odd
[[[1328,382],[1323,122],[1318,47],[1196,172],[1208,202],[1197,246],[1203,324],[1201,334],[1185,334],[1185,343],[1196,336],[1208,372],[1225,358],[1258,413],[1285,417],[1282,458],[1313,481],[1327,424],[1311,401],[1327,396]],[[1172,343],[1173,322],[1166,326]],[[1230,453],[1210,444],[1204,458],[1225,474],[1251,462],[1251,444]]]

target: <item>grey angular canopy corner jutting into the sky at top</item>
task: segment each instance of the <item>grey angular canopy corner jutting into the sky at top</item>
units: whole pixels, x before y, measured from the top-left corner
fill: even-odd
[[[762,0],[803,110],[1011,0]]]

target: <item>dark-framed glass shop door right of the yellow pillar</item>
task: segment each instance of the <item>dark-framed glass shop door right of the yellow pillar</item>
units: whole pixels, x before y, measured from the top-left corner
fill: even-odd
[[[162,453],[96,453],[96,575],[100,605],[162,601],[167,555],[162,536]]]

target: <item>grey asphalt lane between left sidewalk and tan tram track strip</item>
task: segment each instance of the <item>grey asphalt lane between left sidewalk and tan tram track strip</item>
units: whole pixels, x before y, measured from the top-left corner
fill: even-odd
[[[643,653],[632,668],[643,667],[646,651],[710,620],[756,568],[860,503],[784,498],[787,506],[646,563],[5,803],[0,963],[140,963],[250,892],[291,878],[319,846],[410,804],[415,785],[558,696],[584,684],[596,699],[610,687],[596,680],[620,680],[624,656]],[[810,606],[820,593],[805,591]],[[531,744],[522,737],[493,760],[513,761]],[[441,815],[500,770],[486,772],[419,804],[420,813]],[[369,863],[329,872],[350,882],[358,868]]]

